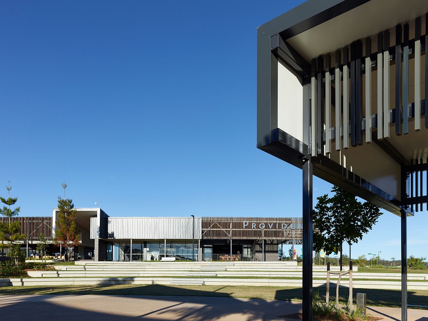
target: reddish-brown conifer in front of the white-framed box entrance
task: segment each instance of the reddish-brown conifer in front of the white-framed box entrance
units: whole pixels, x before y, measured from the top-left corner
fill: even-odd
[[[76,226],[77,210],[74,209],[71,198],[62,199],[58,196],[58,219],[55,221],[55,238],[54,243],[62,243],[68,259],[71,258],[71,252],[74,246],[79,243],[79,231]]]

